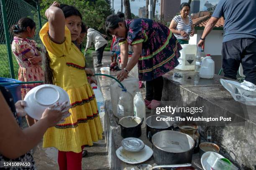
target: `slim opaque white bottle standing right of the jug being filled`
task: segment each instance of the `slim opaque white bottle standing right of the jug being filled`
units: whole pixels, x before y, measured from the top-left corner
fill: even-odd
[[[140,117],[141,120],[144,118],[141,128],[146,127],[146,105],[141,92],[137,92],[133,99],[134,116]]]

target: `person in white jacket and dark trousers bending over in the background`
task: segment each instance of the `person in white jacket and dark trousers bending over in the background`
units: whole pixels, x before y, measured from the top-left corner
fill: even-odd
[[[95,51],[96,51],[97,60],[98,60],[96,67],[101,67],[103,52],[105,47],[108,45],[108,41],[100,34],[100,32],[96,31],[93,28],[89,28],[87,30],[87,44],[84,52],[86,52],[88,48],[90,48],[92,42],[95,45]]]

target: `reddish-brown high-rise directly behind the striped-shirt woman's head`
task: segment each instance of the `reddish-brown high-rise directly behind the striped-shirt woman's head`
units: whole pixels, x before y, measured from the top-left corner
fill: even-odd
[[[170,22],[179,13],[180,0],[161,0],[160,14]]]

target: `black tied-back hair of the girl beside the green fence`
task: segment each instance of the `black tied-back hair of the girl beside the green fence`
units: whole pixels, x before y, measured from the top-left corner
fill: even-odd
[[[36,23],[30,18],[21,18],[18,23],[11,27],[11,31],[14,35],[18,35],[21,32],[26,32],[27,28],[36,28]]]

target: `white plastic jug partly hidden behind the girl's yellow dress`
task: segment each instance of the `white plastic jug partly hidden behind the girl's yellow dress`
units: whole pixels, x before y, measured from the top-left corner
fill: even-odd
[[[98,89],[97,85],[95,85],[93,83],[91,86],[92,86],[94,95],[96,97],[97,107],[98,107],[98,110],[99,110],[100,118],[102,118],[105,115],[105,100],[104,100],[104,97],[103,97],[102,92],[100,91],[100,89]]]

